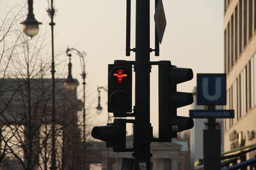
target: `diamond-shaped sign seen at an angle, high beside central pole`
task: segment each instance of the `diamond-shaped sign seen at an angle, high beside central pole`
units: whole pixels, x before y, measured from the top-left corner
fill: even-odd
[[[166,27],[166,18],[164,15],[164,6],[163,6],[162,0],[159,0],[157,3],[154,20],[156,23],[157,36],[158,36],[159,42],[161,43],[164,35],[164,29]]]

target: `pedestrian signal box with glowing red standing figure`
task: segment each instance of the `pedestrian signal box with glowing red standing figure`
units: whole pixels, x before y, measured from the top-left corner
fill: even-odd
[[[115,60],[108,64],[108,112],[123,117],[132,111],[132,64]],[[119,116],[118,116],[119,115]]]

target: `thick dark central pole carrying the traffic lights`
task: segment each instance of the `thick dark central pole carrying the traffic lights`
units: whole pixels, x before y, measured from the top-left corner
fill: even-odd
[[[136,0],[134,169],[150,169],[150,1]]]

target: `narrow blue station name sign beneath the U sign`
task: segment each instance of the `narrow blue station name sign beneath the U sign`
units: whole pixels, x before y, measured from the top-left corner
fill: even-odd
[[[234,118],[234,110],[189,110],[192,118]]]

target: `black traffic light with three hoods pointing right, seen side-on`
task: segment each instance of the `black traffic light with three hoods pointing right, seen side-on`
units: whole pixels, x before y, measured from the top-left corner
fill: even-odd
[[[177,116],[177,108],[193,103],[193,94],[177,92],[177,84],[193,78],[192,69],[159,61],[159,141],[177,138],[177,132],[191,129],[193,118]]]

